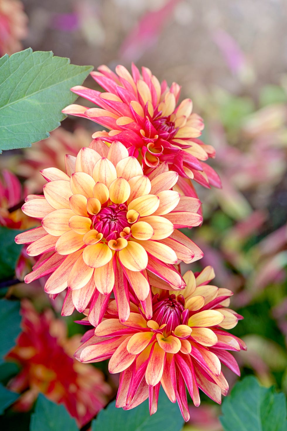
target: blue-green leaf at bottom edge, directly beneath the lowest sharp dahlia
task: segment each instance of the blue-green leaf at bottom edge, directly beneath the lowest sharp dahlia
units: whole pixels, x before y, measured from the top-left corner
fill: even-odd
[[[182,426],[179,407],[160,391],[154,415],[149,415],[148,400],[131,410],[117,409],[113,402],[99,412],[92,422],[92,431],[180,431]]]

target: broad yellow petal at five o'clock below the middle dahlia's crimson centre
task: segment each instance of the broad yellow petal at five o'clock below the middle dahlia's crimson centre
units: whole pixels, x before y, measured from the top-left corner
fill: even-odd
[[[133,241],[128,241],[127,247],[118,252],[120,262],[131,271],[143,271],[148,264],[145,249]]]

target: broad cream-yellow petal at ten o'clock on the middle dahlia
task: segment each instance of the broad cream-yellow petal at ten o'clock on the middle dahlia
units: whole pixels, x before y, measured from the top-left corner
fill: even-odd
[[[55,209],[70,208],[69,198],[72,196],[70,182],[65,180],[50,181],[44,184],[43,193],[47,202]]]

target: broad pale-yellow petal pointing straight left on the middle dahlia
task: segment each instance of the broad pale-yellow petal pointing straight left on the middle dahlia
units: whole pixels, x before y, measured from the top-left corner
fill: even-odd
[[[45,215],[42,226],[48,234],[59,237],[70,230],[69,220],[73,215],[74,212],[71,209],[56,209]]]

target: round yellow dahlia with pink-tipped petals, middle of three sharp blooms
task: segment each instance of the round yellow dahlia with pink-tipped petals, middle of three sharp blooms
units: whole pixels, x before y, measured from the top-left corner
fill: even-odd
[[[127,149],[100,139],[76,157],[67,156],[67,174],[43,169],[44,196],[30,195],[22,210],[42,226],[17,235],[30,243],[30,256],[42,255],[25,281],[50,275],[49,294],[68,287],[62,313],[89,305],[95,325],[113,290],[121,321],[130,315],[130,289],[151,317],[150,283],[182,289],[185,282],[174,265],[191,262],[201,250],[177,228],[198,226],[200,201],[170,190],[178,174],[166,164],[149,178]],[[161,282],[162,279],[163,281]],[[73,306],[74,304],[74,306]]]

